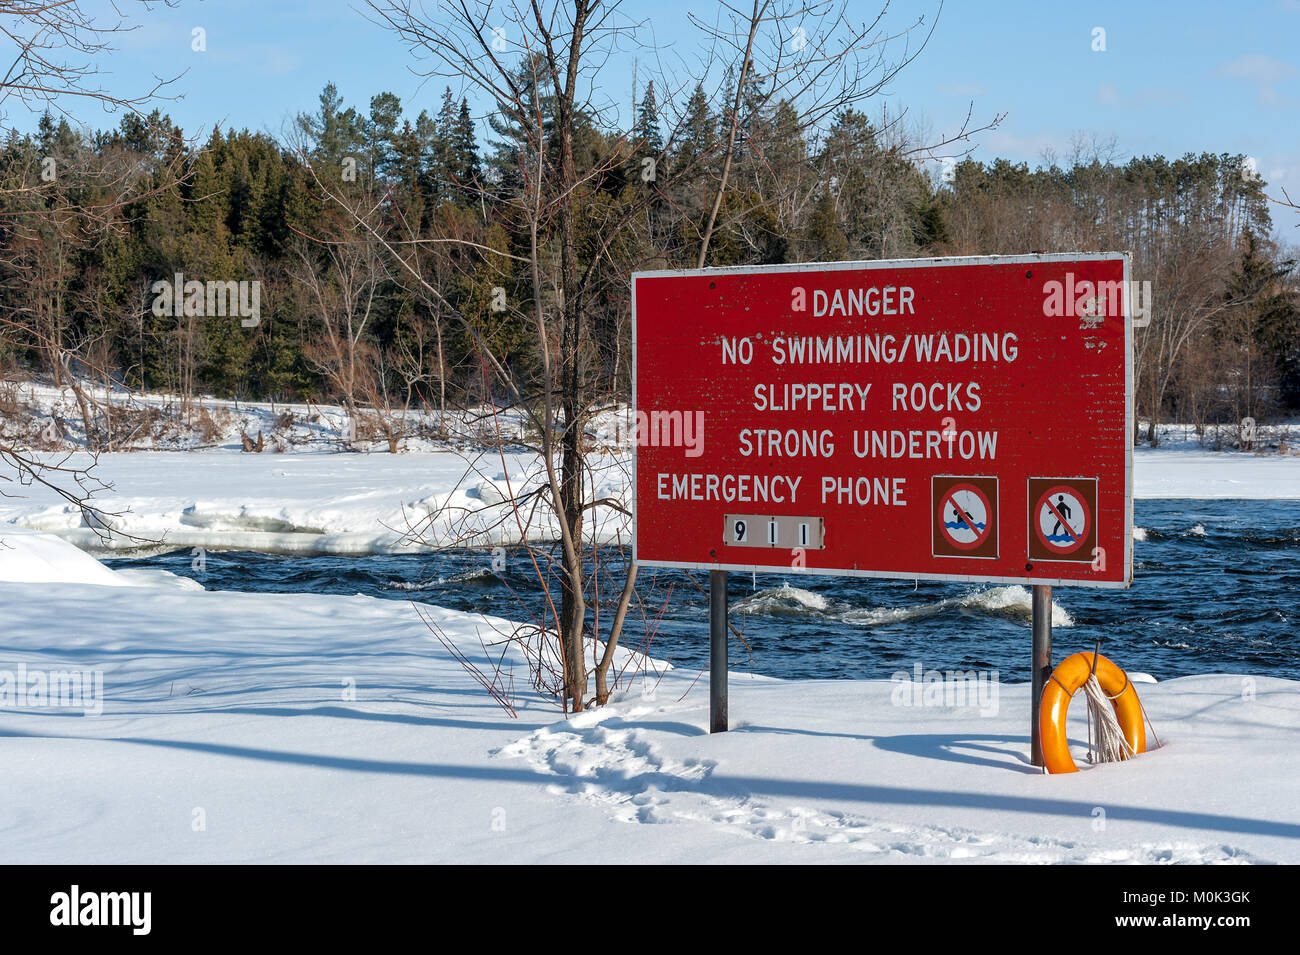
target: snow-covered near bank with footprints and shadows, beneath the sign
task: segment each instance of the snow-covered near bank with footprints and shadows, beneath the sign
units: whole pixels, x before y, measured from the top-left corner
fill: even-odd
[[[733,730],[708,735],[707,677],[656,665],[566,721],[502,621],[424,608],[477,665],[504,650],[512,719],[408,604],[6,544],[0,577],[44,567],[0,583],[6,861],[1300,861],[1296,682],[1143,685],[1162,748],[1043,776],[1026,685],[902,706],[904,683],[733,673]],[[13,706],[58,670],[101,693]]]

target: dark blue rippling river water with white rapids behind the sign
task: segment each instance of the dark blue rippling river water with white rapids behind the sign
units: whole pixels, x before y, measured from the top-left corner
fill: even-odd
[[[1300,502],[1139,500],[1135,526],[1130,590],[1054,590],[1056,660],[1100,639],[1121,667],[1160,680],[1195,673],[1300,680]],[[602,573],[618,586],[621,568],[612,556]],[[188,551],[107,563],[162,568],[208,590],[412,598],[514,620],[532,618],[541,596],[521,551],[507,552],[499,573],[488,551],[467,550],[369,557],[208,552],[202,573]],[[708,605],[697,583],[707,577],[642,570],[625,642],[679,667],[706,667]],[[732,622],[748,644],[733,641],[733,669],[888,678],[920,663],[997,669],[1013,682],[1030,677],[1027,587],[732,574],[729,598]],[[616,600],[616,590],[602,594],[602,635]]]

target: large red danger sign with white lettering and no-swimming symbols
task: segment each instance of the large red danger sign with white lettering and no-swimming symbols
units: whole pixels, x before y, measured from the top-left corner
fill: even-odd
[[[634,557],[1127,587],[1127,253],[632,277]]]

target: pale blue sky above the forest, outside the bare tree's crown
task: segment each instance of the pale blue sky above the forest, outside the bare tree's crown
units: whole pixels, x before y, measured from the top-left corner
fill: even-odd
[[[87,6],[107,4],[87,0]],[[859,18],[878,6],[850,4]],[[885,23],[902,27],[922,13],[932,18],[937,8],[894,0]],[[400,42],[368,22],[364,9],[360,0],[179,0],[117,38],[103,61],[110,75],[101,82],[127,92],[151,86],[153,74],[186,71],[173,87],[183,99],[160,105],[188,133],[221,123],[278,134],[295,113],[315,107],[328,81],[360,109],[381,90],[396,94],[412,116],[436,108],[445,81],[421,86]],[[645,18],[670,56],[690,57],[701,40],[688,12],[711,19],[719,8],[624,0],[621,9]],[[191,49],[195,27],[205,31],[205,52]],[[1097,27],[1105,31],[1104,52],[1093,49]],[[637,56],[644,61],[646,52]],[[615,58],[603,82],[630,88],[632,66],[630,53]],[[1114,139],[1121,160],[1242,152],[1254,157],[1270,191],[1286,186],[1300,200],[1300,0],[949,0],[930,45],[868,109],[906,107],[910,118],[942,134],[971,103],[976,121],[1008,113],[979,136],[976,159],[1032,165],[1044,149],[1067,156],[1075,135]],[[117,122],[98,108],[73,113],[95,127]],[[10,120],[26,125],[20,116]],[[1274,218],[1283,238],[1300,240],[1300,217],[1275,209]]]

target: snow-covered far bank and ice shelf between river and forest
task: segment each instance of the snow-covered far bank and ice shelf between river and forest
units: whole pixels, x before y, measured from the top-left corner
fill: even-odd
[[[77,444],[77,409],[72,392],[42,385],[10,386],[31,417],[25,427],[40,447],[42,421],[60,422],[49,452],[69,465],[91,457],[68,448]],[[165,395],[116,395],[138,409],[164,409]],[[174,408],[172,408],[174,412]],[[415,416],[408,422],[424,437],[404,442],[407,453],[390,455],[376,442],[354,442],[361,453],[347,453],[347,416],[322,405],[270,405],[204,399],[203,413],[216,431],[207,446],[195,433],[159,438],[142,433],[131,447],[99,457],[96,476],[116,491],[98,498],[122,531],[107,539],[103,529],[84,526],[78,508],[40,487],[0,485],[0,539],[8,525],[46,530],[87,551],[255,550],[278,554],[376,554],[420,544],[498,544],[523,538],[555,539],[558,529],[546,508],[521,526],[502,504],[537,490],[545,477],[541,460],[523,446],[486,450],[484,435],[525,434],[517,416],[462,414],[448,418],[445,434],[430,438],[436,421]],[[292,424],[281,427],[281,416]],[[632,459],[625,440],[627,408],[598,414],[590,429],[593,479],[588,494],[630,508]],[[0,426],[16,427],[0,421]],[[240,450],[240,431],[278,435],[276,452]],[[1134,453],[1134,494],[1166,499],[1300,499],[1300,425],[1260,429],[1261,452],[1206,451],[1183,425],[1161,429],[1160,450]],[[52,446],[52,447],[53,447]],[[172,448],[172,450],[169,450]],[[182,450],[183,448],[183,450]],[[1284,448],[1284,450],[1279,450]],[[589,533],[603,541],[628,539],[629,521],[615,508],[590,512]],[[131,539],[136,538],[136,539]]]

